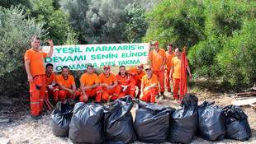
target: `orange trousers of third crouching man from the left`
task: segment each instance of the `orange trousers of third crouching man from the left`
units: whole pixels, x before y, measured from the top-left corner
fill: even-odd
[[[85,91],[85,94],[88,96],[88,98],[93,97],[96,95],[95,97],[95,101],[96,102],[101,102],[102,100],[102,87],[101,86],[97,86],[95,88],[92,89],[92,91]],[[87,103],[87,101],[85,101],[83,99],[83,92],[80,92],[80,101]]]

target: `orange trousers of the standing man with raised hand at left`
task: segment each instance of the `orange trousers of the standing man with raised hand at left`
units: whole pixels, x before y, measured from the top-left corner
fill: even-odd
[[[45,97],[45,74],[33,77],[30,82],[31,114],[39,115],[43,111]]]

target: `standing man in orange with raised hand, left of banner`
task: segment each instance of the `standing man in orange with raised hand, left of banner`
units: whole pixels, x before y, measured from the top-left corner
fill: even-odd
[[[31,49],[26,50],[24,59],[27,80],[30,83],[30,99],[31,99],[31,118],[40,119],[40,112],[43,111],[43,103],[45,97],[45,65],[44,58],[50,58],[54,51],[54,43],[52,39],[48,39],[50,44],[49,53],[39,50],[40,38],[37,36],[31,39]]]

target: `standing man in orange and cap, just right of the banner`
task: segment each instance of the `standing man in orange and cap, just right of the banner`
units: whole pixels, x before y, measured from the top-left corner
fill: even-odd
[[[149,66],[152,67],[152,71],[159,78],[160,93],[163,99],[165,99],[164,64],[166,61],[166,53],[164,49],[159,49],[159,43],[157,41],[154,41],[152,45],[154,50],[152,50],[149,54]],[[157,97],[159,97],[159,95]]]

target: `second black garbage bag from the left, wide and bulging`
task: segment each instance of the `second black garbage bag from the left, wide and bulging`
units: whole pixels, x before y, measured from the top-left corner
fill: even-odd
[[[73,142],[102,143],[104,136],[104,111],[102,105],[79,102],[74,106],[69,128]]]

